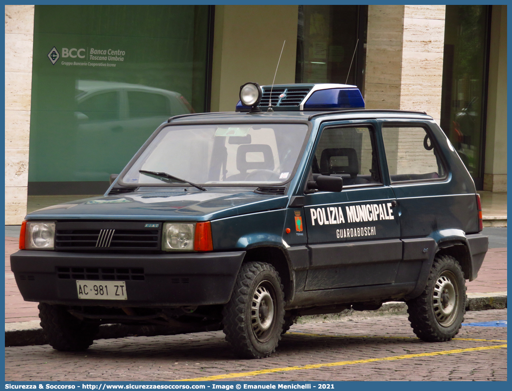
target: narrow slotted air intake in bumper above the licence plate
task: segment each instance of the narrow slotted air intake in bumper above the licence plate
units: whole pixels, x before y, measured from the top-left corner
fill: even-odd
[[[57,267],[57,278],[109,280],[109,281],[143,281],[143,268],[90,268],[90,267]]]

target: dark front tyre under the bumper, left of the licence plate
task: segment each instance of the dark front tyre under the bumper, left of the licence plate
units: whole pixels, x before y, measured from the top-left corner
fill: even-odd
[[[39,303],[39,323],[53,349],[80,352],[93,344],[97,324],[87,323],[71,315],[64,306]]]

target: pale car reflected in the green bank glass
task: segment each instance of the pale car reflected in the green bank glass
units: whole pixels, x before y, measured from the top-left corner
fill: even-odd
[[[181,94],[145,85],[78,80],[76,90],[75,167],[84,181],[108,180],[109,172],[119,172],[155,127],[194,112]]]

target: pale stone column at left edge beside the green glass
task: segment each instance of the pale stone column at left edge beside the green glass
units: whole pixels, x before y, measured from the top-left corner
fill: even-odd
[[[5,6],[5,224],[27,213],[34,6]]]

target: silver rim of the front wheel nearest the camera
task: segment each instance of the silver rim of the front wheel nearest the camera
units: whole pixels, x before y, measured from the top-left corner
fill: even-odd
[[[262,281],[254,290],[251,301],[252,333],[260,342],[270,338],[273,320],[273,289],[268,281]]]

